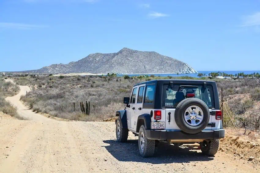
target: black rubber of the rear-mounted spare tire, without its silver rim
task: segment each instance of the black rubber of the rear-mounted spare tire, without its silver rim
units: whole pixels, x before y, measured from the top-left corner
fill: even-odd
[[[202,123],[198,126],[190,126],[184,120],[184,112],[189,106],[199,106],[203,111]],[[182,100],[177,106],[174,113],[177,126],[186,133],[196,134],[201,132],[210,121],[210,110],[205,102],[198,98],[188,98]]]

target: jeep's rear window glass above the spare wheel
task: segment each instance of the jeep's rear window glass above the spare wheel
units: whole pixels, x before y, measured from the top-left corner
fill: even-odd
[[[208,107],[214,107],[213,87],[211,85],[163,85],[163,107],[176,107],[187,94],[195,94],[195,98],[204,101]]]

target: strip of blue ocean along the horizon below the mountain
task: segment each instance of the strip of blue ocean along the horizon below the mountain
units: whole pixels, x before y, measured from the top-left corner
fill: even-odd
[[[260,73],[260,70],[241,70],[241,71],[198,71],[199,73],[202,73],[202,74],[206,74],[207,76],[209,76],[210,73],[212,72],[221,72],[221,73],[226,73],[226,74],[238,74],[238,73],[244,73],[244,74],[252,74],[252,73]],[[195,73],[195,74],[166,74],[166,73],[163,73],[163,74],[117,74],[117,76],[124,76],[124,75],[128,75],[128,76],[139,76],[139,75],[154,75],[154,76],[190,76],[190,77],[198,77],[198,74]]]

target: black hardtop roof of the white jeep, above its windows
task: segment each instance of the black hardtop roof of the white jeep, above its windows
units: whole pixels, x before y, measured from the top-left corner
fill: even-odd
[[[156,84],[158,82],[162,82],[162,83],[167,83],[167,82],[173,82],[173,83],[194,83],[194,84],[199,84],[199,83],[202,83],[202,82],[206,82],[208,84],[213,84],[213,83],[216,83],[215,81],[206,81],[206,80],[186,80],[186,79],[158,79],[158,80],[152,80],[152,81],[145,81],[145,82],[141,82],[141,83],[138,83],[134,86],[137,86],[137,85],[142,85],[142,84]]]

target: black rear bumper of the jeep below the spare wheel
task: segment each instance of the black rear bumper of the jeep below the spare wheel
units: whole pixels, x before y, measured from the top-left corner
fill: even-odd
[[[225,130],[203,130],[196,134],[189,134],[183,131],[166,131],[146,129],[147,139],[167,140],[167,139],[220,139],[224,138]]]

